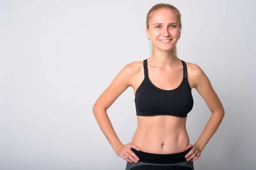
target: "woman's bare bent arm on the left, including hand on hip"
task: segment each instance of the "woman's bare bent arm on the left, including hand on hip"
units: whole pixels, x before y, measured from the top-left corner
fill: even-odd
[[[108,118],[107,109],[128,87],[131,86],[133,75],[132,65],[127,65],[115,77],[110,86],[101,94],[93,106],[94,116],[101,131],[108,139],[108,142],[118,156],[129,162],[137,162],[139,160],[139,158],[130,150],[131,148],[139,150],[139,148],[134,144],[123,145],[121,143],[113,129],[110,119]]]

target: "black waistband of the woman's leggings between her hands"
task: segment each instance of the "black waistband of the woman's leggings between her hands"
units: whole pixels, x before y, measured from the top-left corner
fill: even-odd
[[[153,153],[146,153],[142,151],[137,151],[135,149],[131,149],[138,157],[139,161],[147,162],[147,163],[180,163],[185,162],[186,158],[185,155],[189,153],[190,150],[186,150],[181,153],[174,153],[174,154],[153,154]]]

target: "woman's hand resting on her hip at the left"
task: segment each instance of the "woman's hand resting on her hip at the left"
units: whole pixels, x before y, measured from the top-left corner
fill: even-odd
[[[137,163],[139,161],[139,157],[137,157],[137,155],[135,155],[134,152],[132,152],[131,148],[135,149],[135,150],[140,150],[138,146],[136,146],[135,144],[129,143],[126,145],[120,145],[115,149],[115,152],[117,153],[117,155],[121,158],[123,158],[124,160],[132,163],[135,162]]]

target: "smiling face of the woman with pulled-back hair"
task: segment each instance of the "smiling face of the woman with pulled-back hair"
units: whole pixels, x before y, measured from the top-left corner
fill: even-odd
[[[159,9],[151,14],[146,28],[154,50],[171,51],[180,37],[180,22],[171,9]]]

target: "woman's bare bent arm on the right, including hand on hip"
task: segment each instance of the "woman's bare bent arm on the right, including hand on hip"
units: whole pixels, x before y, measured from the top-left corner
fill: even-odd
[[[186,155],[187,161],[195,161],[198,159],[198,157],[200,157],[202,150],[218,129],[225,114],[220,99],[213,90],[208,77],[204,74],[201,68],[192,64],[191,73],[191,75],[189,74],[189,76],[192,76],[191,85],[204,99],[209,110],[211,111],[211,117],[209,118],[206,126],[204,127],[204,130],[202,131],[195,144],[189,144],[189,146],[186,147],[186,149],[191,148],[191,151]]]

